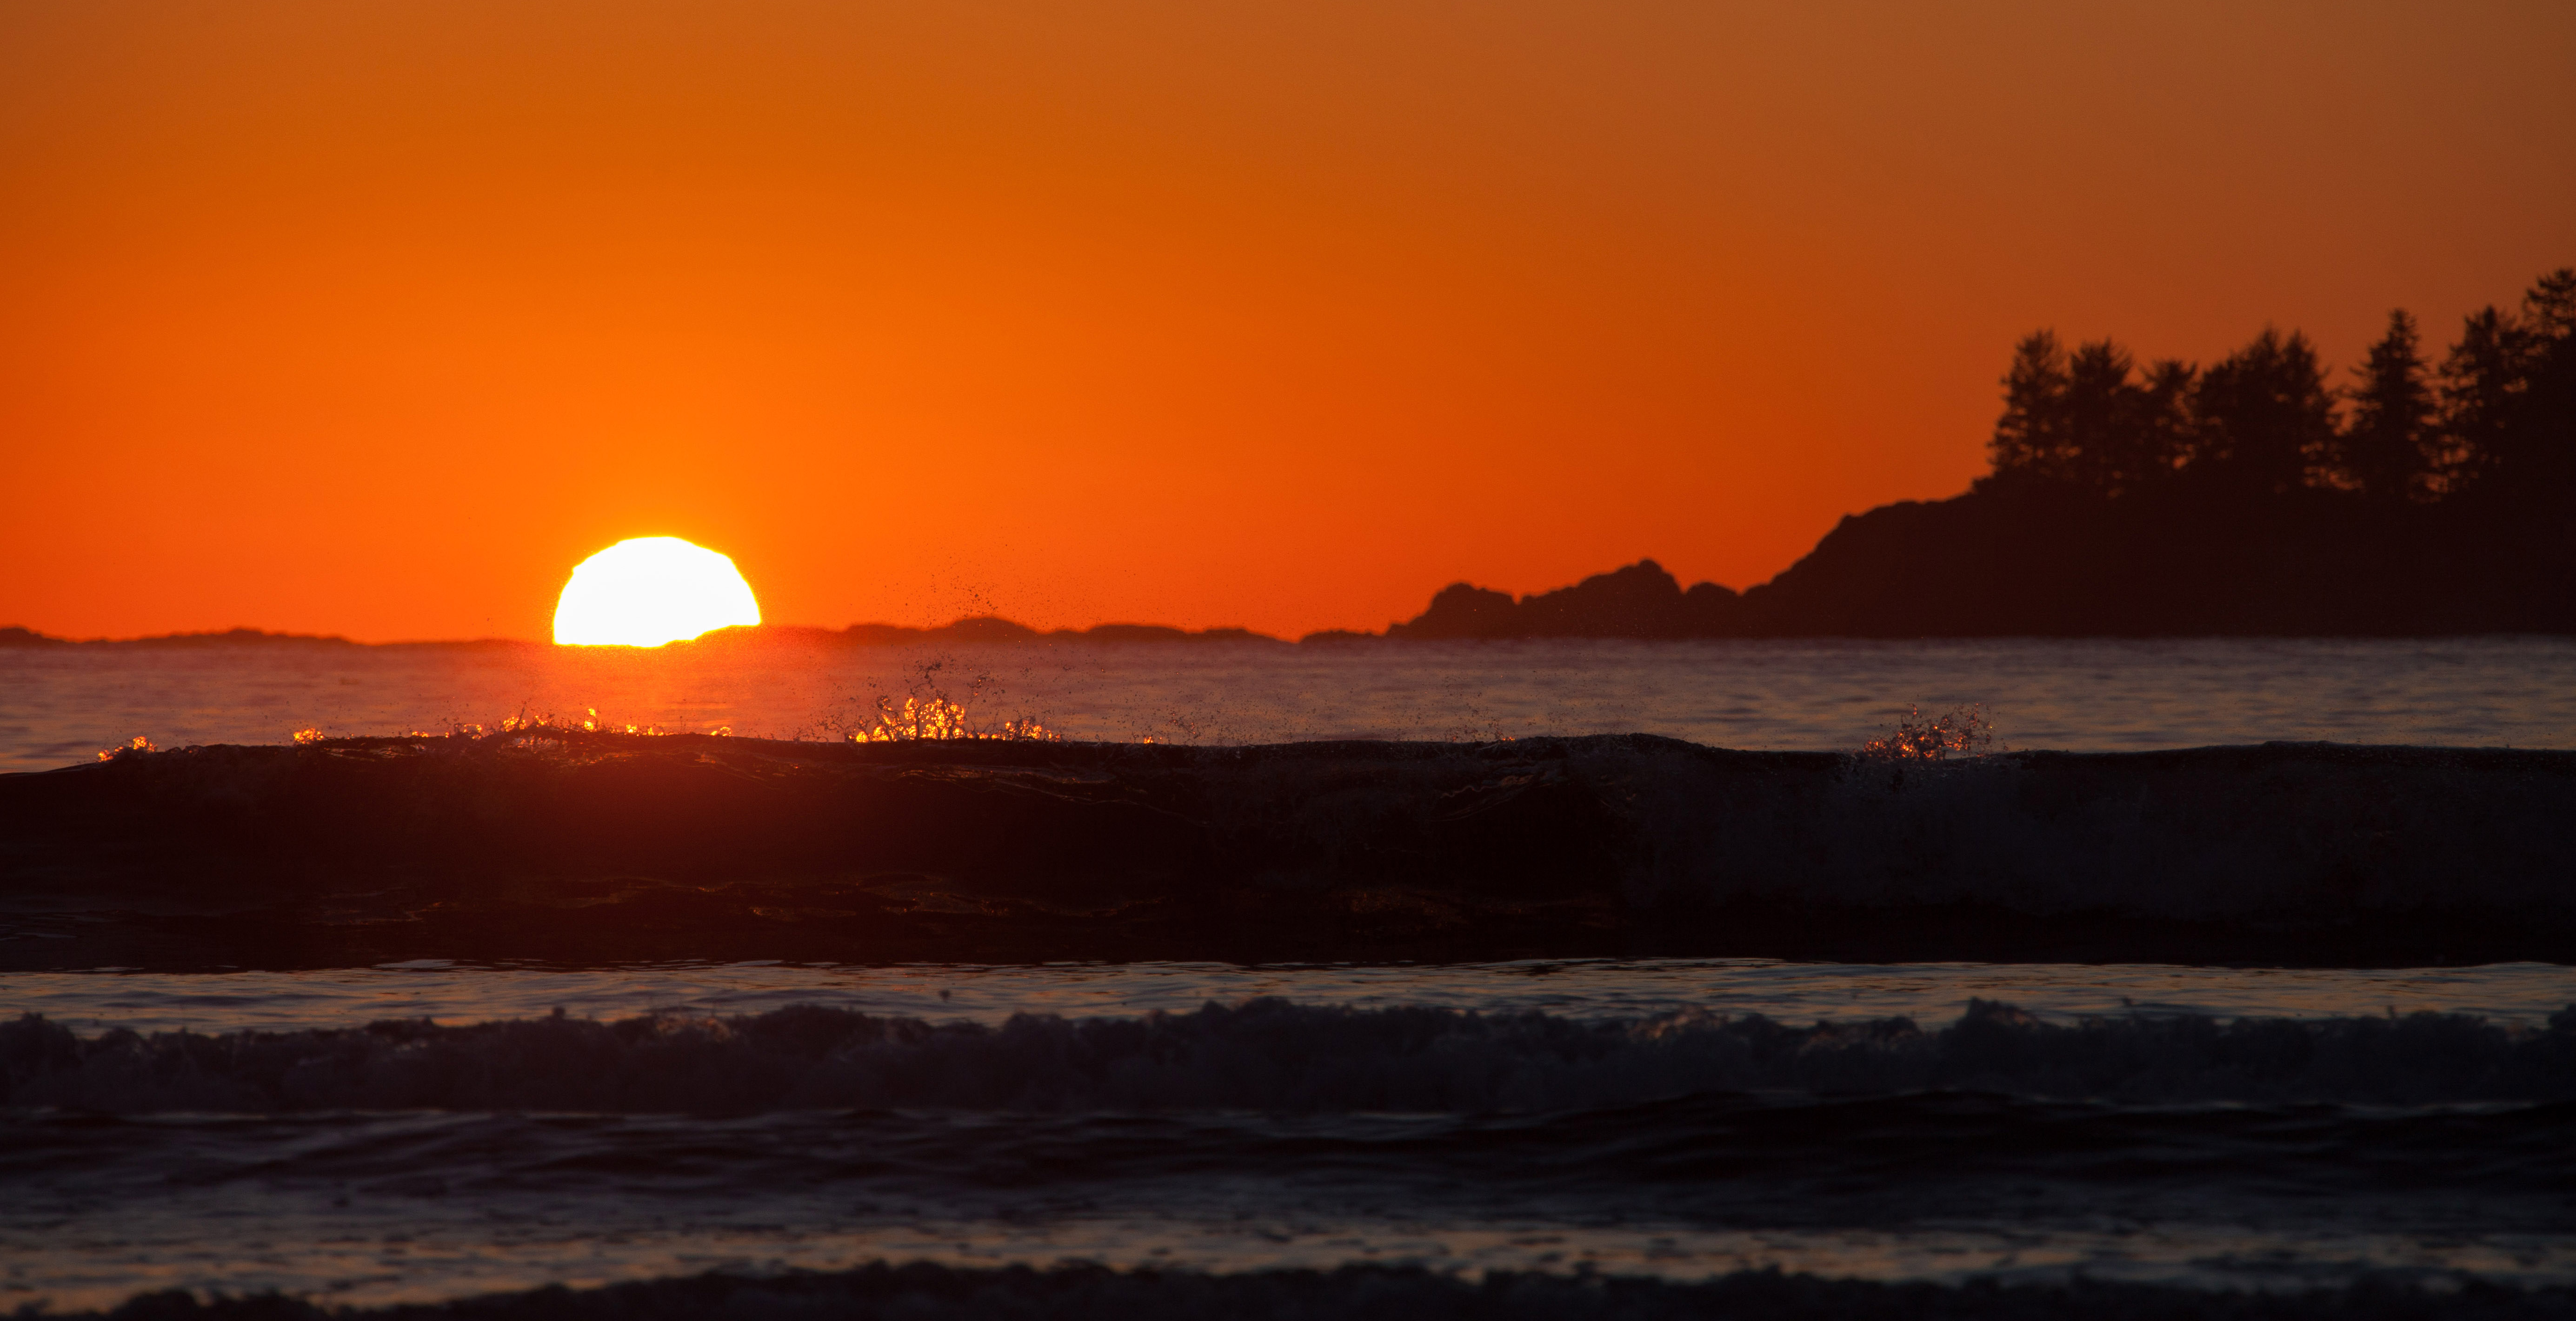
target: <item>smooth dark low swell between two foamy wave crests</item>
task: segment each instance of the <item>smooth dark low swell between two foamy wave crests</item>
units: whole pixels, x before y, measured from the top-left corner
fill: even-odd
[[[894,1221],[920,1208],[979,1221],[1043,1205],[1188,1223],[1260,1208],[1321,1226],[1401,1205],[1422,1223],[1453,1226],[1517,1215],[1955,1228],[2107,1215],[2439,1233],[2445,1215],[2424,1210],[2432,1195],[2473,1197],[2488,1236],[2563,1236],[2576,1102],[2110,1105],[1989,1092],[1718,1092],[1543,1115],[10,1115],[0,1177],[36,1208],[59,1197],[167,1205],[180,1190],[219,1203],[222,1190],[252,1182],[276,1197],[456,1195],[520,1205],[536,1195],[621,1208],[582,1215],[600,1226],[647,1200],[801,1203],[809,1213],[819,1200],[829,1215],[868,1208]],[[2561,1249],[2576,1249],[2576,1239]],[[2576,1251],[2558,1254],[2576,1264]]]

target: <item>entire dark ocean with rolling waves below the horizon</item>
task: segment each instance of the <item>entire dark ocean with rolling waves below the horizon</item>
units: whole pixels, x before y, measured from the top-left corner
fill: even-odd
[[[0,1308],[2566,1316],[2571,749],[2571,639],[0,651]]]

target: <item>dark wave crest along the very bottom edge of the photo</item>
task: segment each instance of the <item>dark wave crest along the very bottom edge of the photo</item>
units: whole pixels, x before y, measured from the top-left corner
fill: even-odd
[[[1512,1321],[1512,1318],[1703,1318],[1744,1321],[1878,1321],[1878,1318],[2058,1318],[2117,1316],[2125,1321],[2519,1321],[2563,1318],[2576,1290],[2504,1288],[2478,1280],[2362,1280],[2344,1288],[2290,1293],[2192,1290],[2133,1282],[1968,1282],[1886,1285],[1814,1275],[1739,1272],[1705,1282],[1602,1275],[1492,1272],[1481,1280],[1422,1267],[1265,1269],[1206,1275],[1185,1269],[963,1269],[930,1262],[873,1264],[850,1272],[726,1275],[647,1280],[592,1290],[544,1288],[459,1303],[392,1308],[325,1308],[299,1298],[252,1295],[204,1303],[188,1293],[152,1293],[106,1316],[113,1321],[629,1321],[724,1316],[739,1321],[806,1318],[1206,1318],[1309,1321]]]

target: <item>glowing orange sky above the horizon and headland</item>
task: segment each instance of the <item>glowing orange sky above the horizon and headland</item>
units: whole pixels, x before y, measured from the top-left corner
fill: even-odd
[[[1793,10],[1793,13],[1783,13]],[[0,8],[0,623],[1381,628],[1744,587],[2012,340],[2447,342],[2576,263],[2576,5]]]

